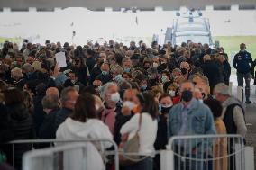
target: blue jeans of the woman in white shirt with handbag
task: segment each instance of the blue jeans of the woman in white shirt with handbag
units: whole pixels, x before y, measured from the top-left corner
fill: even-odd
[[[153,170],[153,159],[147,157],[131,166],[122,167],[122,170]]]

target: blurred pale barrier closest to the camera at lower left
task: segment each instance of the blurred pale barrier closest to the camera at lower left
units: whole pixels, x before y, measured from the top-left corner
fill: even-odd
[[[74,159],[72,154],[73,156],[76,155],[79,157]],[[55,170],[67,169],[68,167],[68,169],[86,170],[88,163],[87,154],[89,154],[87,153],[87,145],[81,143],[68,144],[55,148],[36,149],[23,155],[23,170]],[[68,155],[69,157],[67,158],[69,159],[65,159],[64,155]],[[63,168],[64,165],[69,166]]]

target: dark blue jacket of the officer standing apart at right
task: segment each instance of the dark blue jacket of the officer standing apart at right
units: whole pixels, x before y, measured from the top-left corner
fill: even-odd
[[[250,73],[252,64],[253,61],[251,58],[251,54],[246,50],[240,51],[233,58],[233,67],[237,70],[238,73]]]

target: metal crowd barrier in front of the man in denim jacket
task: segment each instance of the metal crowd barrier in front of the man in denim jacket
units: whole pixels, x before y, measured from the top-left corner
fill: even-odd
[[[240,135],[175,136],[161,153],[161,170],[245,170],[244,149]]]

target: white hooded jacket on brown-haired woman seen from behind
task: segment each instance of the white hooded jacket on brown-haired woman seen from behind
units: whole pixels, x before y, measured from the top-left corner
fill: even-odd
[[[86,122],[74,121],[67,118],[56,132],[56,139],[113,139],[108,127],[99,120],[87,119]],[[103,143],[104,148],[112,144]]]

